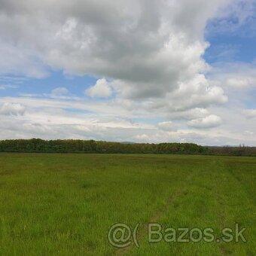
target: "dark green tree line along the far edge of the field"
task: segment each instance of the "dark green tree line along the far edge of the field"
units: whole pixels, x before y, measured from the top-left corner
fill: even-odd
[[[194,143],[122,143],[95,140],[7,139],[0,141],[0,152],[23,153],[100,153],[100,154],[213,154],[255,156],[256,147],[205,147]]]

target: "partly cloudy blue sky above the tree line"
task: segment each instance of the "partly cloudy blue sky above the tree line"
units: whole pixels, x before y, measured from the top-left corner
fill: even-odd
[[[256,146],[256,0],[0,0],[0,139]]]

